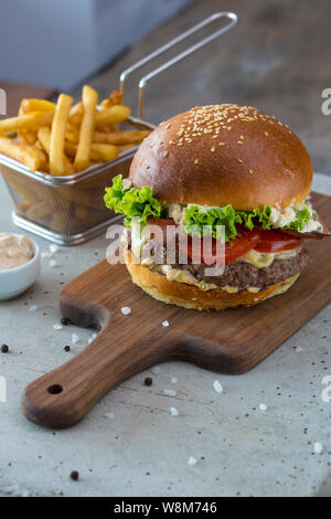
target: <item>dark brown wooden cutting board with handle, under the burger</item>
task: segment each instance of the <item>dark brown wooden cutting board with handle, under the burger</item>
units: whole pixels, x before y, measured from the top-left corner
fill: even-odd
[[[331,198],[314,194],[313,203],[331,227]],[[167,360],[224,373],[249,370],[331,300],[331,239],[310,241],[309,247],[313,261],[286,294],[218,313],[159,303],[132,285],[125,265],[103,261],[61,294],[62,314],[100,333],[25,389],[24,415],[46,427],[68,427],[116,384]],[[121,314],[125,306],[131,308],[128,316]],[[162,326],[164,320],[169,327]]]

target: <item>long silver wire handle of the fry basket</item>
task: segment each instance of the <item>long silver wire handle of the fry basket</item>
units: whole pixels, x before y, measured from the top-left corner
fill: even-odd
[[[222,27],[221,29],[218,29],[217,31],[213,32],[212,34],[210,34],[209,36],[204,38],[203,40],[201,40],[200,42],[195,43],[194,45],[190,46],[189,49],[186,49],[185,51],[181,52],[179,55],[177,55],[175,57],[173,57],[172,60],[169,60],[168,62],[166,62],[163,65],[159,66],[158,68],[154,68],[152,72],[150,72],[149,74],[147,74],[146,76],[141,77],[141,80],[139,81],[139,102],[138,102],[138,115],[139,117],[142,117],[143,116],[143,105],[145,105],[145,88],[146,88],[146,85],[147,83],[149,82],[149,80],[151,80],[152,77],[157,76],[158,74],[161,74],[163,71],[167,71],[168,68],[170,68],[172,65],[174,65],[175,63],[182,61],[184,57],[189,56],[190,54],[193,54],[193,52],[197,51],[199,49],[201,49],[202,46],[206,45],[207,43],[212,42],[213,40],[216,40],[216,38],[221,36],[222,34],[224,34],[225,32],[229,31],[233,27],[236,25],[237,23],[237,15],[234,13],[234,12],[229,12],[229,11],[221,11],[221,12],[215,12],[214,14],[212,14],[211,17],[206,18],[205,20],[203,20],[202,22],[200,23],[196,23],[196,25],[192,27],[191,29],[189,29],[188,31],[183,32],[182,34],[179,34],[177,38],[174,38],[173,40],[171,40],[170,42],[166,43],[164,45],[160,46],[159,49],[157,49],[156,51],[153,51],[152,53],[148,54],[147,56],[145,56],[142,60],[140,60],[139,62],[135,63],[134,65],[131,65],[129,68],[127,68],[126,71],[124,71],[121,74],[120,74],[120,77],[119,77],[119,82],[120,82],[120,92],[124,94],[125,92],[125,84],[126,84],[126,80],[128,78],[128,76],[134,72],[136,71],[137,68],[140,68],[142,65],[145,65],[146,63],[152,61],[154,57],[163,54],[164,52],[167,52],[169,49],[175,46],[178,43],[182,42],[183,40],[188,39],[189,36],[191,36],[191,34],[194,34],[195,32],[200,31],[201,29],[203,29],[204,27],[206,25],[210,25],[212,22],[214,22],[215,20],[220,20],[222,18],[226,18],[229,20],[229,22]]]

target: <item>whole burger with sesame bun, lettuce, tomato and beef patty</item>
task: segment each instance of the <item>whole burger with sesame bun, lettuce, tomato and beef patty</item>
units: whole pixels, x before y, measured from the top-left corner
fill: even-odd
[[[125,214],[124,257],[136,285],[163,303],[221,310],[288,290],[309,262],[306,241],[330,235],[309,201],[312,176],[307,149],[276,117],[211,105],[161,123],[105,202]],[[204,253],[205,235],[212,251],[223,245],[213,275],[220,261]]]

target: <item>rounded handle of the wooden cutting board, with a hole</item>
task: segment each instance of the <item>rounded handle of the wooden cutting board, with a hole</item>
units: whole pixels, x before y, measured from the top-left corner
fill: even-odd
[[[21,401],[26,419],[44,427],[70,427],[111,388],[171,356],[169,338],[157,349],[153,337],[117,339],[106,327],[84,351],[28,385]]]

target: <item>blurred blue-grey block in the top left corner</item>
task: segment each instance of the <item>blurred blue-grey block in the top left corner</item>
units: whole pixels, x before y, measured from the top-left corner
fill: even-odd
[[[0,78],[67,89],[191,0],[1,0]]]

